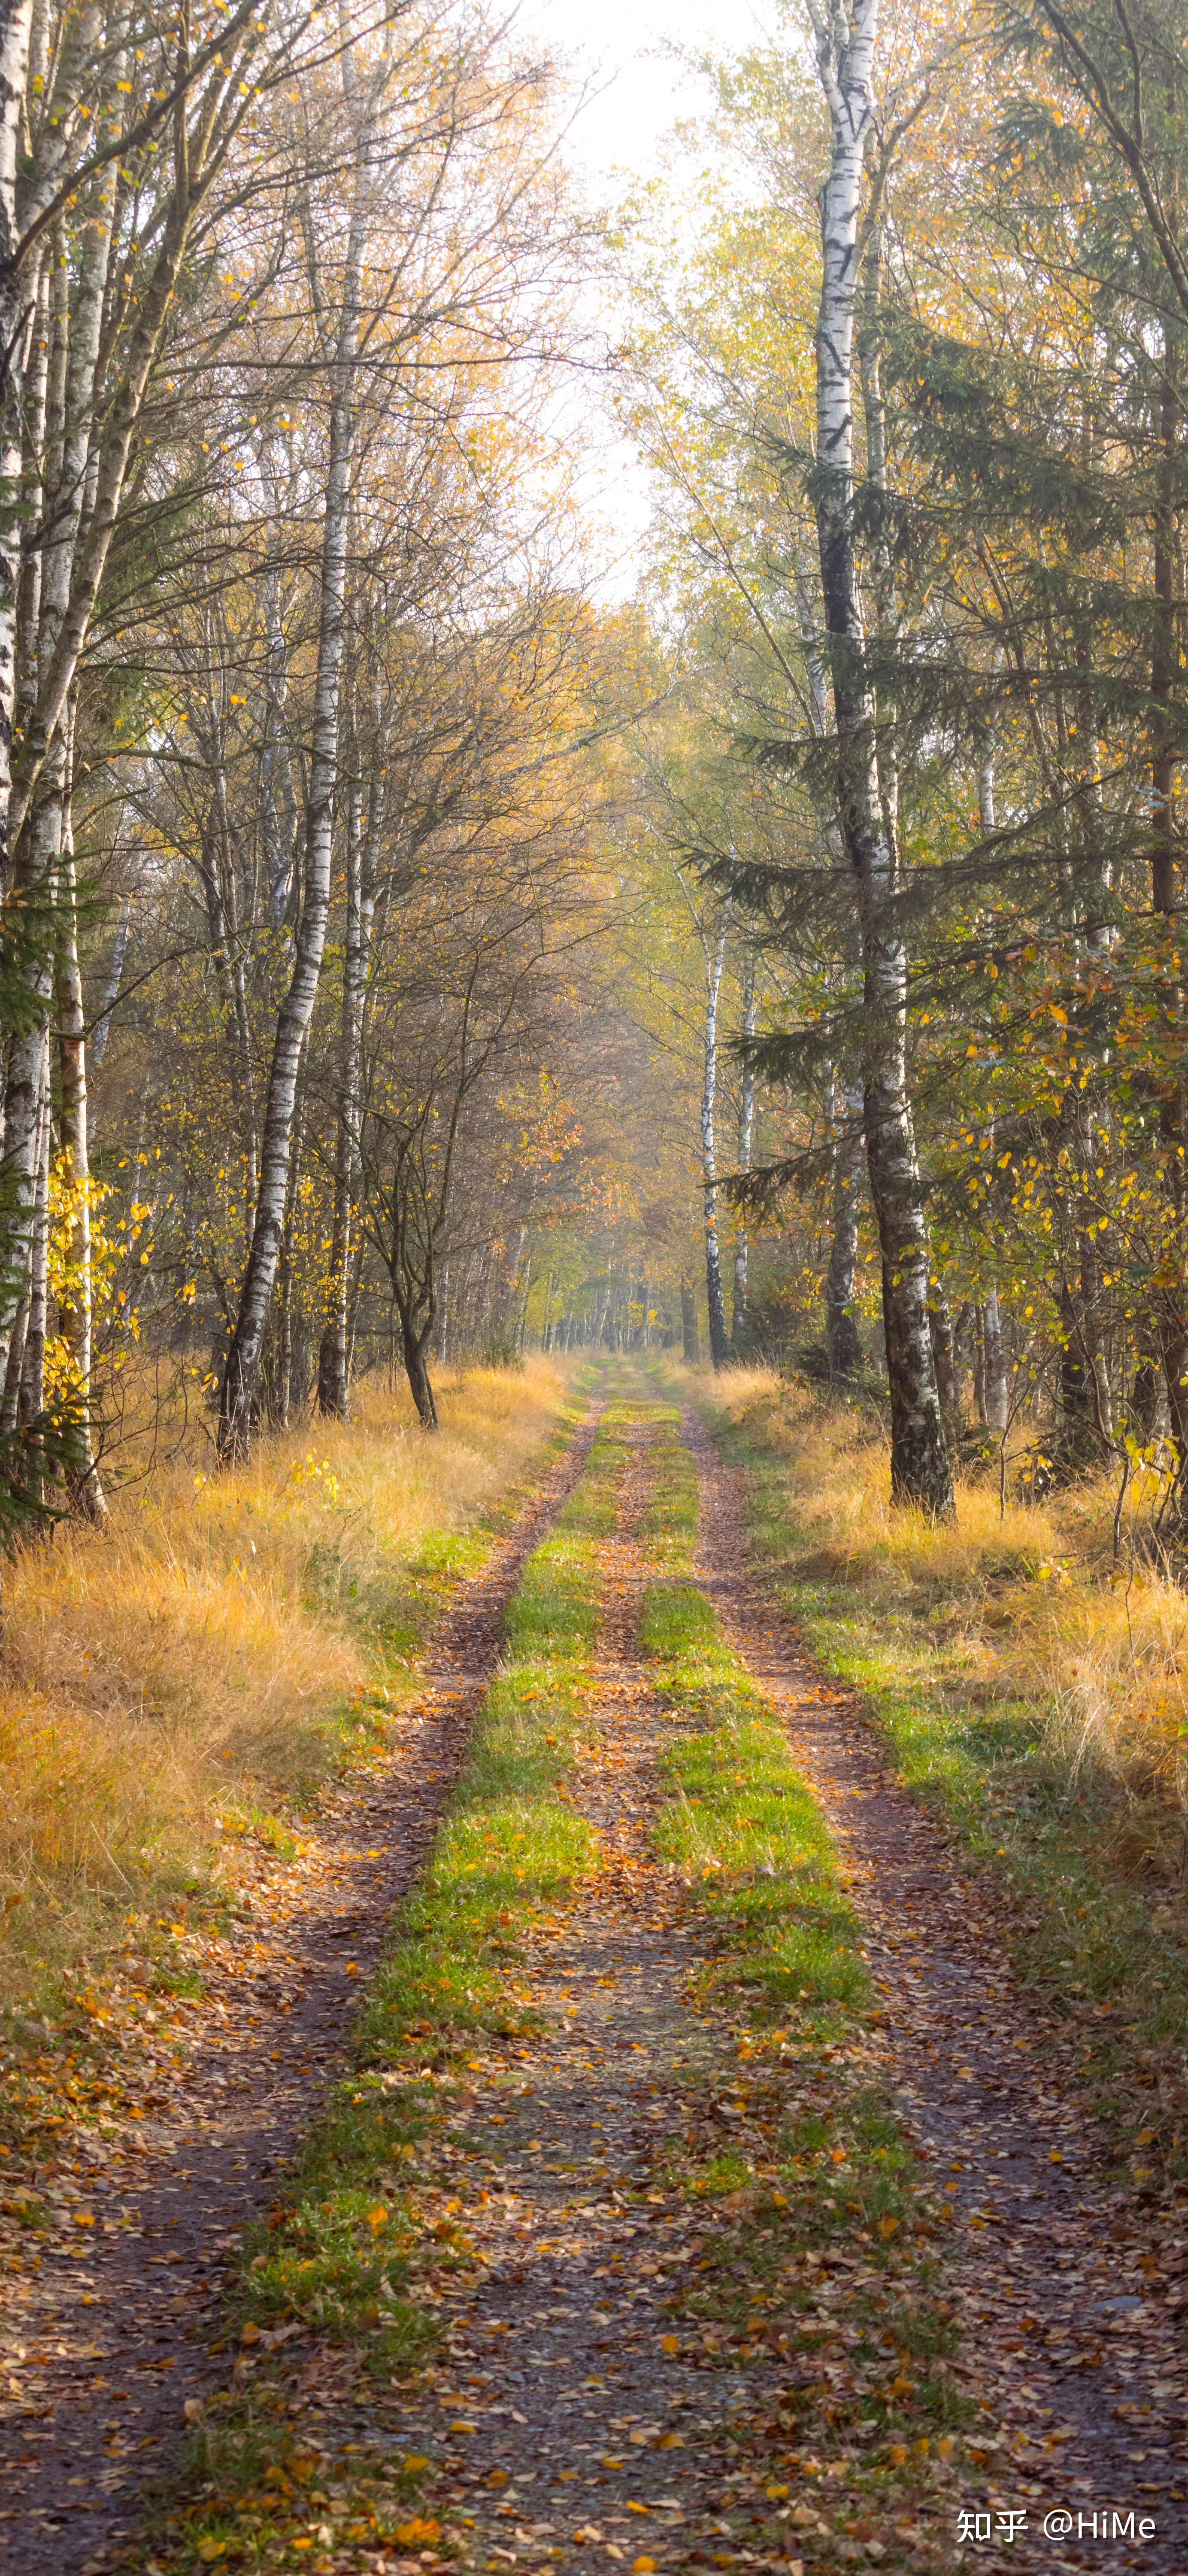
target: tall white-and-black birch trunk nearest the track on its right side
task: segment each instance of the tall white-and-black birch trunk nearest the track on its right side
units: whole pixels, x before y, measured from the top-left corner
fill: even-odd
[[[879,778],[879,729],[866,677],[853,531],[853,322],[863,157],[874,131],[876,0],[848,21],[809,0],[817,67],[832,124],[822,188],[822,299],[817,319],[817,546],[838,734],[838,819],[853,868],[863,940],[863,1121],[884,1278],[892,1388],[892,1499],[935,1517],[953,1512],[933,1340],[928,1229],[907,1105],[907,953],[897,925],[897,850]]]

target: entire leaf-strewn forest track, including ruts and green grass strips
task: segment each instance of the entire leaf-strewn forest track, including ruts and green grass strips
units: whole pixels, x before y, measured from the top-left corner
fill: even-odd
[[[0,2568],[1183,2576],[1185,2210],[657,1394],[59,2208]]]

